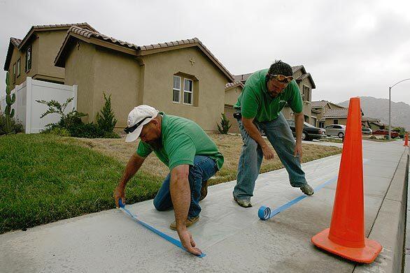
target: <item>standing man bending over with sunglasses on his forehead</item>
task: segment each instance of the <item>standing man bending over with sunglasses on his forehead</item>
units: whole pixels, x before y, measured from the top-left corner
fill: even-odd
[[[285,103],[295,114],[296,143],[281,110]],[[268,69],[257,71],[246,80],[245,87],[234,105],[235,117],[241,129],[243,147],[234,187],[234,200],[241,207],[252,207],[255,181],[262,158],[274,158],[274,152],[263,140],[264,131],[289,174],[290,185],[306,195],[313,189],[306,182],[302,161],[303,105],[299,87],[292,77],[292,67],[275,61]],[[239,114],[241,113],[241,114]]]

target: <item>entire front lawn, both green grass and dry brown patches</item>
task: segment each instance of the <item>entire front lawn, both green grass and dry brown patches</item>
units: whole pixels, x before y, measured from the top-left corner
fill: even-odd
[[[211,134],[225,163],[210,184],[236,179],[242,140]],[[115,207],[113,190],[136,143],[123,139],[61,138],[44,134],[0,137],[0,234]],[[339,154],[338,147],[304,143],[304,162]],[[261,172],[283,168],[278,156]],[[169,170],[156,156],[127,184],[127,203],[154,198]]]

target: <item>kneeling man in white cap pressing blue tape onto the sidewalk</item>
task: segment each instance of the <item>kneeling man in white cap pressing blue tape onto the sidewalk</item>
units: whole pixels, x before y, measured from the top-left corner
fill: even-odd
[[[222,168],[224,158],[215,143],[194,121],[166,115],[149,105],[139,105],[128,115],[125,141],[141,138],[136,154],[127,163],[120,183],[114,191],[115,204],[122,198],[125,204],[125,186],[139,170],[143,161],[155,152],[169,168],[169,175],[154,199],[157,210],[174,207],[175,221],[169,226],[178,232],[182,245],[195,255],[195,247],[187,227],[199,219],[199,200],[205,198],[208,179]]]

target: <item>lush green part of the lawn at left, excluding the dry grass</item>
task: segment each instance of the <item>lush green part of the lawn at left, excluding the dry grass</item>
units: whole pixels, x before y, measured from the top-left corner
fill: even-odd
[[[0,233],[115,207],[124,165],[52,135],[0,137]],[[127,202],[153,198],[162,179],[139,172]]]

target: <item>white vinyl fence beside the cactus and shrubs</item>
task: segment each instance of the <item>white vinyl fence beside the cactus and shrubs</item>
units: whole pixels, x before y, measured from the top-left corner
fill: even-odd
[[[67,98],[74,98],[67,106],[66,112],[71,112],[73,108],[77,109],[77,85],[64,85],[41,80],[27,80],[11,91],[15,94],[15,103],[11,106],[14,109],[14,117],[19,119],[25,133],[38,133],[45,128],[47,124],[59,121],[58,114],[49,114],[42,119],[41,115],[48,110],[48,106],[36,101],[55,100],[59,103],[65,103]],[[6,110],[6,97],[0,99],[1,112]]]

